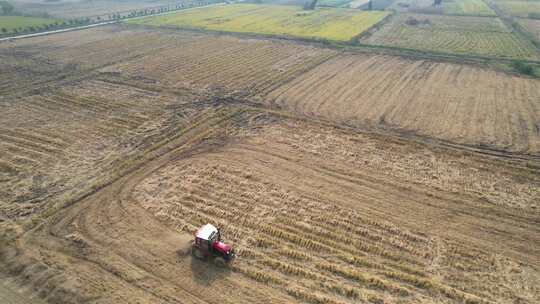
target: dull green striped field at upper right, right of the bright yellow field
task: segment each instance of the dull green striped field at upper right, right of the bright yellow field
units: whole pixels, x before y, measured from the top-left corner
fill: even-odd
[[[373,35],[373,45],[463,55],[538,60],[536,47],[498,18],[399,14]]]

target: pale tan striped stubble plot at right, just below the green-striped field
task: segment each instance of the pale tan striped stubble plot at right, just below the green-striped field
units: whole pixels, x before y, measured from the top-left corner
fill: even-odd
[[[468,145],[540,152],[540,81],[386,56],[334,58],[268,102],[352,126],[414,131]]]

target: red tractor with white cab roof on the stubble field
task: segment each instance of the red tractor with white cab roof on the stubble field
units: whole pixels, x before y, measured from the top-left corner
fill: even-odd
[[[191,253],[201,260],[211,257],[219,266],[232,261],[235,256],[232,246],[221,241],[219,229],[211,224],[206,224],[197,230]]]

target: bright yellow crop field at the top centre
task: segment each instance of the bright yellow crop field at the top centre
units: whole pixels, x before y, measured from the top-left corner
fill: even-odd
[[[129,23],[348,41],[388,14],[340,8],[304,11],[296,6],[236,4],[148,17]]]

